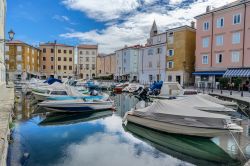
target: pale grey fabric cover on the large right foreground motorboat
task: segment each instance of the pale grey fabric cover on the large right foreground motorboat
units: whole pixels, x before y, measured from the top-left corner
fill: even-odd
[[[137,109],[134,116],[152,119],[165,123],[192,126],[199,128],[225,129],[231,122],[230,116],[200,111],[187,105],[184,100],[157,100],[151,106]]]

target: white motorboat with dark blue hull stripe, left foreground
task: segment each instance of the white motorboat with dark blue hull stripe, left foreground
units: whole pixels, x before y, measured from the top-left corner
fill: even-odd
[[[90,112],[114,109],[113,101],[84,101],[83,99],[43,101],[38,105],[54,112]]]

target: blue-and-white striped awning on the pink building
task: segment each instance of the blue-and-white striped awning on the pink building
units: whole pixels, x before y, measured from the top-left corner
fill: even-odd
[[[250,77],[250,68],[231,68],[223,77]]]

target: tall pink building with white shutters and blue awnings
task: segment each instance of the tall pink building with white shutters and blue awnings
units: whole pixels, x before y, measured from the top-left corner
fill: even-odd
[[[250,1],[210,10],[197,19],[195,82],[215,87],[219,78],[250,77]]]

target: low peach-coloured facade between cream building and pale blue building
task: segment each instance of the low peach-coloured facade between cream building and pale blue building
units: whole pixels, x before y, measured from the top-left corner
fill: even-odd
[[[115,74],[116,54],[99,54],[96,60],[97,76],[111,76]]]

